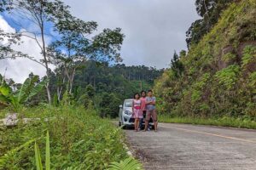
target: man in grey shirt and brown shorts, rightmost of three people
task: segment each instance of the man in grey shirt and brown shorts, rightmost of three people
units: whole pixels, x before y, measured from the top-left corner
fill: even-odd
[[[155,97],[153,96],[152,90],[148,90],[148,96],[146,98],[146,123],[145,123],[145,129],[144,131],[147,131],[148,129],[148,122],[150,120],[150,117],[152,117],[154,122],[154,132],[157,132],[157,113],[155,111]]]

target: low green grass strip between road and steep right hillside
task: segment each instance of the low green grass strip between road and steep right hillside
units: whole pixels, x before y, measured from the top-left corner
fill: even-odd
[[[221,118],[196,118],[196,117],[172,117],[169,115],[160,115],[160,122],[169,123],[184,123],[184,124],[195,124],[195,125],[211,125],[221,127],[240,127],[240,128],[252,128],[256,129],[256,122],[224,116]]]

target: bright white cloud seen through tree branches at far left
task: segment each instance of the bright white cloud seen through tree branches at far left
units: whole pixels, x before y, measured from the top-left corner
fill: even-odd
[[[6,32],[15,32],[15,28],[9,26],[6,20],[3,19],[3,16],[0,15],[0,29]],[[30,35],[31,36],[31,35]],[[41,49],[38,47],[37,42],[32,40],[29,37],[22,37],[21,43],[19,46],[14,45],[13,48],[17,51],[21,51],[24,54],[29,54],[35,59],[41,59],[42,55]],[[49,42],[49,37],[47,38],[47,42]],[[5,73],[5,69],[7,69]],[[26,77],[33,72],[40,77],[44,77],[45,68],[43,65],[39,65],[38,63],[30,60],[30,59],[1,59],[0,60],[0,73],[7,78],[13,78],[15,82],[24,82]]]

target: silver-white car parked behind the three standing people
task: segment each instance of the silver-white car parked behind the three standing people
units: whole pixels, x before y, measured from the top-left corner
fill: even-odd
[[[132,118],[132,100],[125,99],[123,105],[119,105],[119,126],[134,127],[134,118]],[[143,126],[145,122],[145,115],[143,115]],[[149,127],[153,126],[152,119],[149,121]]]

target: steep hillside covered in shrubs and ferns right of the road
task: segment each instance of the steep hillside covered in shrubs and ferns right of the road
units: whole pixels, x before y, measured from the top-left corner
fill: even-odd
[[[211,11],[219,5],[226,9],[216,9],[218,22],[209,25],[205,36],[188,37],[189,52],[175,54],[172,67],[155,81],[159,109],[171,116],[232,116],[255,121],[256,1],[209,2],[213,5],[197,6],[198,10],[209,7],[201,9],[209,12],[198,23],[214,16]],[[193,29],[192,25],[190,35],[198,35],[204,26]]]

